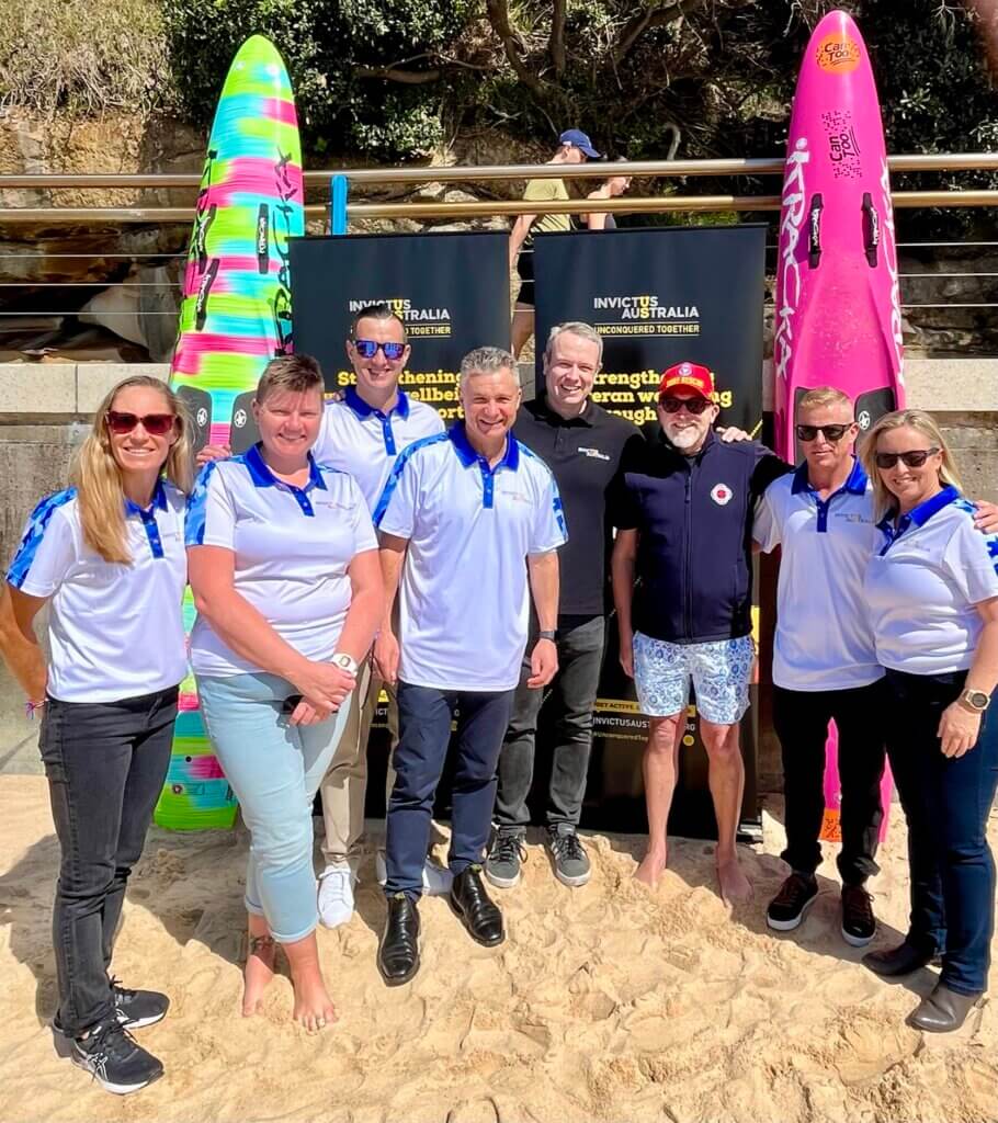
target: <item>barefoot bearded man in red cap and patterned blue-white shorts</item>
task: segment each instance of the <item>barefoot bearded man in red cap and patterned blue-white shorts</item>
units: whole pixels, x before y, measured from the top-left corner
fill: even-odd
[[[751,896],[735,836],[744,788],[739,722],[754,663],[752,517],[757,499],[788,467],[756,441],[718,439],[717,413],[707,367],[679,363],[662,374],[662,432],[622,466],[612,576],[621,664],[651,720],[643,761],[649,846],[635,876],[654,885],[666,868],[693,679],[717,819],[717,879],[722,897],[736,903]]]

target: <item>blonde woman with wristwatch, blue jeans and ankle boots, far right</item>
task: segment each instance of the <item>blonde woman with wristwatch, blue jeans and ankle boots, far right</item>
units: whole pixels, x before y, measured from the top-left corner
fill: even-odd
[[[910,1016],[959,1029],[987,989],[995,864],[987,821],[998,784],[998,536],[976,509],[942,433],[921,410],[882,417],[863,445],[883,542],[864,592],[887,670],[887,751],[908,823],[912,914],[904,942],[863,961],[899,976],[942,956]]]

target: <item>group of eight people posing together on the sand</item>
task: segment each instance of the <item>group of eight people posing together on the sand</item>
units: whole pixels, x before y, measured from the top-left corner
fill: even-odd
[[[524,859],[543,688],[556,730],[546,809],[553,875],[590,876],[578,823],[603,656],[607,576],[621,661],[650,719],[643,759],[648,852],[667,865],[690,684],[718,825],[722,896],[751,886],[735,833],[744,772],[753,549],[781,548],[773,679],[790,874],[767,909],[796,928],[817,894],[827,723],[842,776],[842,934],[876,933],[885,746],[908,821],[912,916],[871,951],[881,975],[935,957],[912,1021],[952,1030],[987,986],[994,865],[985,827],[998,780],[988,706],[998,683],[998,511],[960,492],[927,414],[881,418],[853,451],[850,400],[797,403],[794,468],[714,429],[714,375],[663,372],[660,432],[646,439],[592,400],[602,339],[556,327],[542,393],[521,402],[513,356],[461,363],[464,419],[447,431],[399,387],[410,348],[386,305],[346,344],[356,384],[324,401],[318,364],[273,360],[256,392],[259,442],[209,447],[192,480],[191,427],[171,390],[119,384],[97,412],[72,486],[31,513],[0,600],[0,650],[42,718],[40,750],[62,847],[53,940],[57,1041],[112,1092],[161,1061],[131,1037],[168,1006],[110,974],[115,930],[162,787],[186,673],[181,599],[198,619],[190,658],[205,728],[250,834],[244,1013],[280,944],[294,1016],[336,1019],[315,930],[349,919],[361,855],[365,750],[390,696],[394,748],[383,866],[386,984],[420,966],[419,902],[446,893],[478,943],[505,939],[486,884]],[[615,531],[615,533],[614,533]],[[51,657],[33,620],[48,604]],[[452,725],[456,731],[452,732]],[[448,868],[428,860],[433,800],[454,746]],[[313,867],[321,791],[324,867]]]

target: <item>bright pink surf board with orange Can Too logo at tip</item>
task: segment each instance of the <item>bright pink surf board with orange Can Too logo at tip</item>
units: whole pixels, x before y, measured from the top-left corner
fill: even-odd
[[[867,430],[904,405],[901,312],[890,177],[870,58],[852,18],[814,30],[797,79],[784,174],[773,367],[776,446],[799,462],[794,408],[833,385]],[[862,436],[860,437],[862,439]],[[825,764],[822,838],[840,838],[834,723]],[[887,832],[891,778],[881,787]]]

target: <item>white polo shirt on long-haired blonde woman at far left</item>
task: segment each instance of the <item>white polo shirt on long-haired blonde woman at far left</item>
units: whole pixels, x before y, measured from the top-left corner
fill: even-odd
[[[126,500],[131,565],[104,562],[84,542],[75,487],[31,512],[7,579],[29,596],[51,597],[52,697],[118,702],[186,677],[184,504],[168,482],[157,484],[147,510]]]

